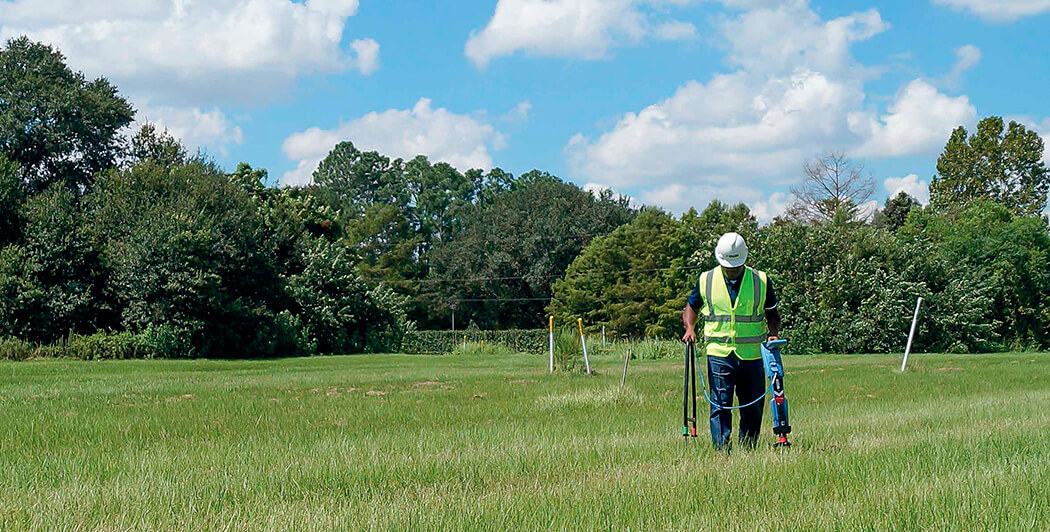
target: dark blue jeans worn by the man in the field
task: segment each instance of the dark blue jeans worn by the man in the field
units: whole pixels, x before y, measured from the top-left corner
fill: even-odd
[[[708,357],[708,382],[711,400],[722,406],[733,405],[736,391],[738,404],[748,404],[765,391],[765,373],[762,360],[740,360],[736,354],[729,357]],[[762,428],[763,399],[740,409],[740,444],[754,447]],[[728,449],[733,434],[733,410],[711,406],[711,441],[715,448]]]

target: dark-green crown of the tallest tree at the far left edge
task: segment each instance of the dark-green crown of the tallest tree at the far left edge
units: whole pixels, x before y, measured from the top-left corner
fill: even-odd
[[[50,46],[20,37],[0,49],[0,152],[19,164],[28,193],[89,187],[117,163],[118,132],[133,118],[116,87],[85,80]]]

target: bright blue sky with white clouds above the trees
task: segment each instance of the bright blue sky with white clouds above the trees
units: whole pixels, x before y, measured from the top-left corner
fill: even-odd
[[[762,219],[822,151],[881,201],[925,197],[957,125],[1050,139],[1048,22],[1050,0],[0,0],[0,37],[285,184],[350,140]]]

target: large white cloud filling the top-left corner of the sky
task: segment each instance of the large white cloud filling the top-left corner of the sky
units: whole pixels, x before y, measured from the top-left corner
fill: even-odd
[[[358,0],[14,0],[0,38],[28,35],[69,64],[165,104],[272,98],[297,77],[375,70],[378,44],[341,47]]]

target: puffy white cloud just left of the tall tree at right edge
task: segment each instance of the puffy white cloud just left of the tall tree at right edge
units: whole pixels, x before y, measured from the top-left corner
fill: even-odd
[[[908,83],[878,120],[870,113],[849,114],[849,129],[867,141],[854,150],[858,156],[902,156],[933,153],[951,130],[976,118],[965,95],[950,98],[923,80]]]

